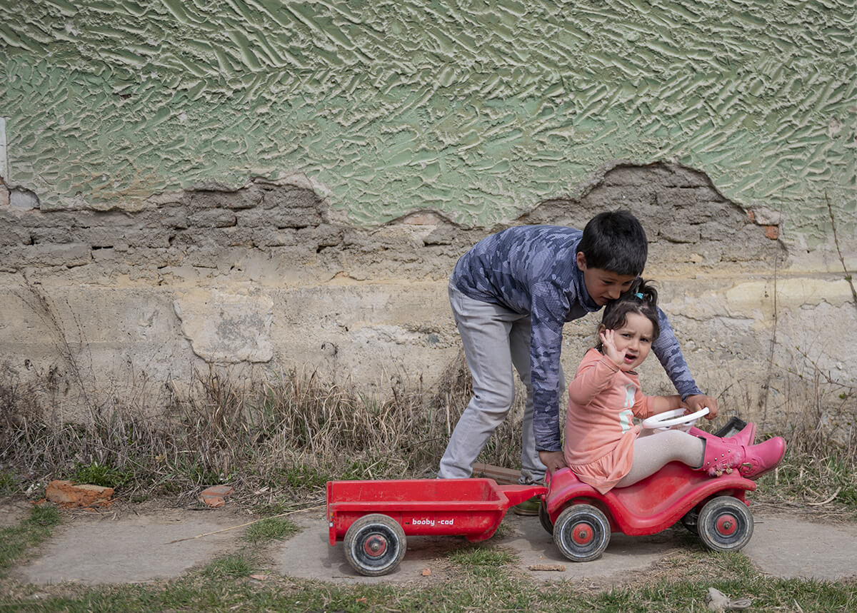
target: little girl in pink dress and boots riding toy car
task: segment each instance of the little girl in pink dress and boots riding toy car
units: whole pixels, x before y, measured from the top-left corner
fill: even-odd
[[[754,445],[752,426],[728,439],[696,429],[640,436],[633,417],[687,408],[681,396],[644,396],[640,391],[634,368],[649,355],[659,332],[657,292],[642,279],[604,309],[600,342],[586,353],[568,386],[563,454],[578,479],[605,494],[645,479],[670,461],[712,477],[737,468],[747,479],[776,467],[785,442],[775,437]]]

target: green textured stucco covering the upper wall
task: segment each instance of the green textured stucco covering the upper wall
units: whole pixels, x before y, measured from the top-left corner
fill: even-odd
[[[43,210],[297,172],[353,223],[490,226],[673,160],[800,243],[825,194],[854,231],[853,1],[0,4],[7,183]]]

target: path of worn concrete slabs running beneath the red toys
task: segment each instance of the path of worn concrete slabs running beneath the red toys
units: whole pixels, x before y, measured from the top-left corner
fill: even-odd
[[[0,506],[0,521],[20,519],[24,506]],[[812,517],[754,511],[755,529],[743,550],[764,573],[776,577],[841,580],[857,576],[857,524],[823,523]],[[67,515],[52,539],[12,570],[17,580],[37,585],[76,581],[83,584],[134,583],[177,577],[245,543],[245,528],[254,517],[234,505],[223,509],[134,509]],[[405,561],[384,577],[355,574],[345,562],[342,545],[327,543],[327,523],[321,509],[290,517],[303,531],[275,542],[268,553],[273,569],[298,578],[345,583],[439,580],[450,572],[446,554],[464,545],[455,537],[408,539]],[[209,534],[198,537],[201,534]],[[609,580],[686,548],[684,528],[670,528],[651,537],[615,534],[601,559],[575,564],[557,551],[550,535],[532,517],[507,514],[492,541],[518,556],[518,567],[538,580]],[[565,570],[530,571],[533,564],[562,564]],[[424,577],[428,568],[431,574]]]

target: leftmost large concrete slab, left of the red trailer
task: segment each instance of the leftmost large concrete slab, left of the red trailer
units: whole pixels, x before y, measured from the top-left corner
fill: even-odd
[[[241,545],[238,539],[243,528],[193,539],[243,523],[235,516],[214,513],[168,509],[119,519],[111,515],[81,518],[61,528],[32,562],[16,568],[16,574],[37,585],[135,583],[177,577]]]

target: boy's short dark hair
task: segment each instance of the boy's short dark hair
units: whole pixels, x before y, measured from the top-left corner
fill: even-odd
[[[649,241],[630,211],[604,211],[592,217],[578,243],[586,265],[618,275],[640,275],[649,254]]]

